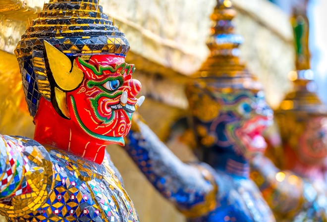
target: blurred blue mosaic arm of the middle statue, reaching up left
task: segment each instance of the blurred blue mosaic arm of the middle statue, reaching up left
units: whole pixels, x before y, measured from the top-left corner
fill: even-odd
[[[210,166],[181,162],[134,116],[125,150],[163,197],[188,217],[203,215],[215,207],[217,185]]]

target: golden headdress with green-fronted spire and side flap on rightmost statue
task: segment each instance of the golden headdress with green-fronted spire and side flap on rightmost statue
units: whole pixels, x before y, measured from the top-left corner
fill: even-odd
[[[295,150],[308,121],[316,116],[327,115],[327,107],[317,95],[317,85],[313,81],[314,72],[310,69],[309,23],[305,14],[294,9],[291,23],[294,29],[297,70],[288,73],[293,90],[275,110],[275,119],[283,143]]]

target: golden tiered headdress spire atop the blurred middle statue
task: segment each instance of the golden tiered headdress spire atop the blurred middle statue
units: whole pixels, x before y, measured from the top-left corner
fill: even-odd
[[[217,0],[211,15],[213,26],[207,40],[210,55],[194,75],[215,78],[218,88],[261,90],[262,86],[240,61],[239,46],[243,37],[234,33],[236,11],[230,0]]]

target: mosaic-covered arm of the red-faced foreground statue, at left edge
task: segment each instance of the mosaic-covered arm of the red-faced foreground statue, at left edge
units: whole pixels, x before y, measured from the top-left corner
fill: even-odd
[[[0,135],[0,214],[35,211],[52,188],[53,165],[45,148],[28,138]]]

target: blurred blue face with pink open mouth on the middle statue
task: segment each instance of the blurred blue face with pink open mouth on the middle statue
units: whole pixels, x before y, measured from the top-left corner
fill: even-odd
[[[199,141],[204,147],[232,149],[245,158],[265,151],[267,144],[262,132],[272,123],[272,110],[263,92],[233,90],[223,93],[214,87],[192,91],[190,107]]]

